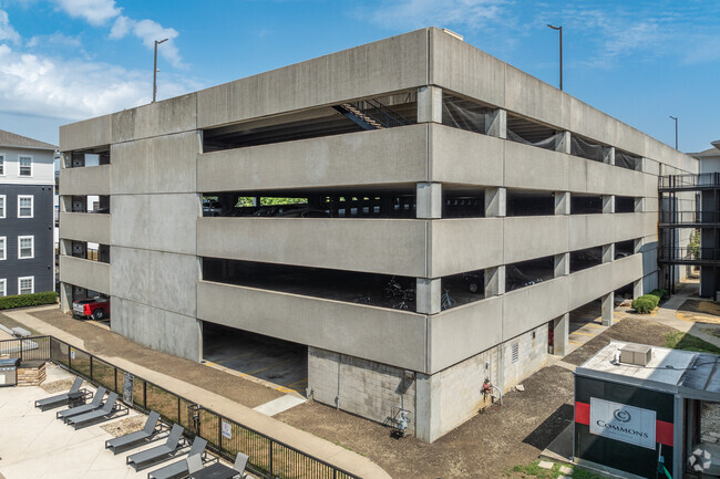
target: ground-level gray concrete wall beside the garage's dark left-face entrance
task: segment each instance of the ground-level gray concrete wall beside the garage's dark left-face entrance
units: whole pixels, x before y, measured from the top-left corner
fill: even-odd
[[[410,410],[415,434],[415,381],[404,369],[331,351],[308,348],[308,391],[313,400],[385,423],[393,408]]]

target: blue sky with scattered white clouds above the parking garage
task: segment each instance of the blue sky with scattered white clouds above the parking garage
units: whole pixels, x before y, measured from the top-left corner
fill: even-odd
[[[58,126],[435,25],[680,149],[720,139],[720,2],[0,0],[0,128]]]

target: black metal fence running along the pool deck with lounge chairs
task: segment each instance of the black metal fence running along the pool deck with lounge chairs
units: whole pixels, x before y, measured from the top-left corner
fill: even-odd
[[[0,341],[0,354],[10,354],[21,361],[52,361],[96,386],[104,386],[123,396],[126,371],[56,337],[38,336]],[[237,452],[248,455],[248,469],[259,477],[360,479],[150,381],[131,376],[132,403],[136,409],[145,413],[155,410],[160,413],[163,420],[179,424],[189,436],[206,439],[212,451],[229,461],[235,460]]]

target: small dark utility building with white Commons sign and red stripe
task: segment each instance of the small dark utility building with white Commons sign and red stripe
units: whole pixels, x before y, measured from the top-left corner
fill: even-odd
[[[719,475],[719,360],[605,346],[575,372],[576,462],[629,478]]]

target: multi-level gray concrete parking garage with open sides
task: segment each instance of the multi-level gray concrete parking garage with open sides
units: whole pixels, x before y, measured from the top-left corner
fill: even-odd
[[[114,331],[193,361],[215,325],[299,344],[309,397],[428,441],[565,354],[573,310],[657,288],[658,176],[698,169],[435,28],[60,143],[65,311],[107,294]]]

